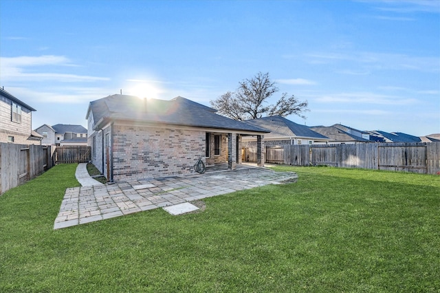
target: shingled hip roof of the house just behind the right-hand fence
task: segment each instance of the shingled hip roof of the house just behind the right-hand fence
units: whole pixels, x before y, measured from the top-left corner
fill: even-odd
[[[317,133],[309,127],[297,124],[281,116],[269,116],[264,118],[245,120],[246,124],[267,129],[269,134],[265,134],[265,138],[316,138],[328,140],[327,136]]]

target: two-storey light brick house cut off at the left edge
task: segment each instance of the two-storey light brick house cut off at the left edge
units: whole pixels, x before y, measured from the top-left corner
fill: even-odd
[[[32,131],[32,111],[36,109],[1,88],[0,142],[41,144],[43,137]]]

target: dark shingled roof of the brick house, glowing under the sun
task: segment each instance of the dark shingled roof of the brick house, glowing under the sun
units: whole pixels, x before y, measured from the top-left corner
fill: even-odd
[[[266,133],[264,129],[220,116],[216,110],[178,96],[172,100],[142,100],[136,96],[115,94],[90,102],[96,127],[111,120],[129,120],[175,124],[191,127],[231,129]]]

